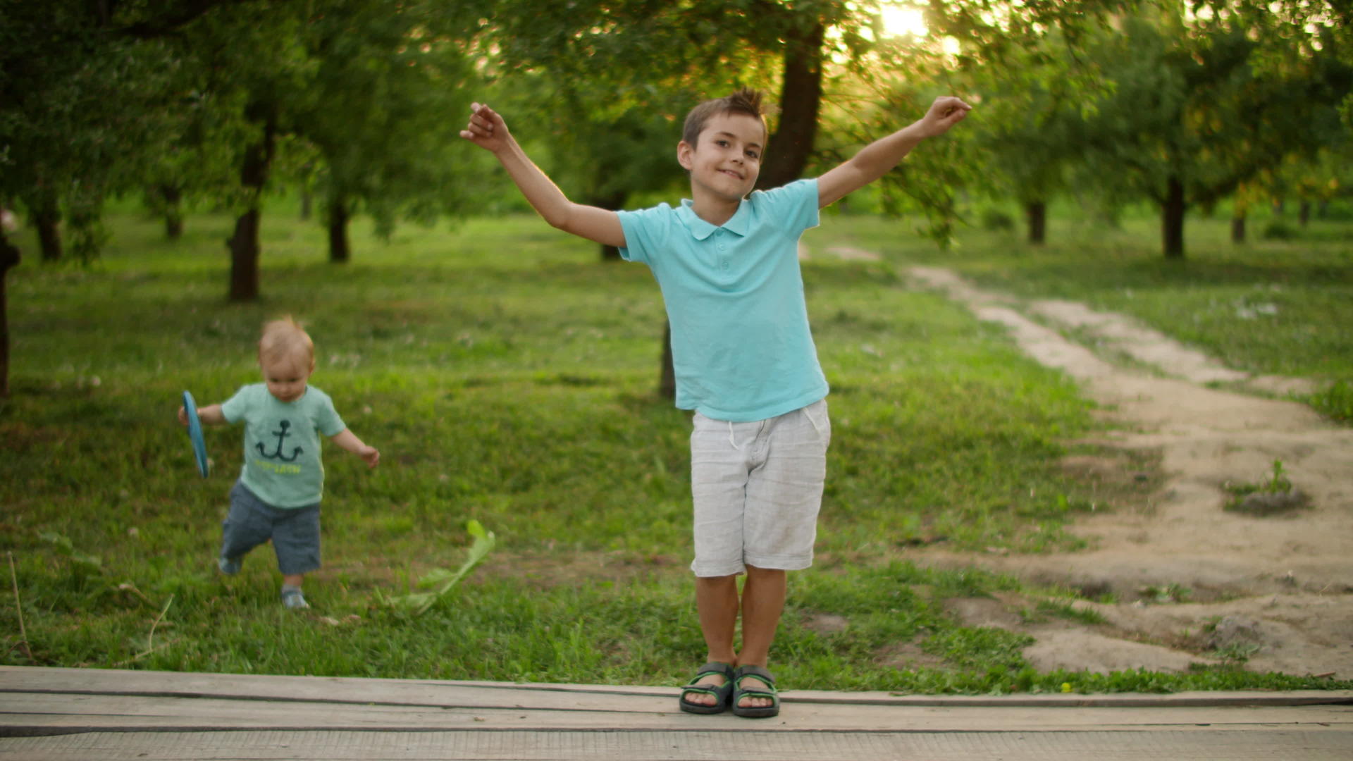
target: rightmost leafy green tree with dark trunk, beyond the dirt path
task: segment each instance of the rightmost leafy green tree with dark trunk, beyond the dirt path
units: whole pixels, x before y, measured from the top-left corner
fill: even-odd
[[[1337,121],[1346,68],[1330,54],[1256,68],[1254,28],[1189,27],[1181,8],[1166,4],[1126,16],[1120,34],[1091,53],[1115,91],[1084,122],[1078,142],[1103,181],[1160,204],[1166,259],[1184,257],[1191,206],[1211,207],[1287,156],[1316,150],[1316,135]]]

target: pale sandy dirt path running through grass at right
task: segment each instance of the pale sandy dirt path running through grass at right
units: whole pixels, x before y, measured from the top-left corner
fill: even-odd
[[[1112,592],[1116,604],[1078,603],[1103,624],[1062,619],[1030,624],[1027,600],[955,600],[973,626],[1027,631],[1039,669],[1181,670],[1245,659],[1256,672],[1353,678],[1353,431],[1310,408],[1204,386],[1303,389],[1299,379],[1252,376],[1222,367],[1119,314],[1072,302],[1016,302],[955,274],[913,267],[909,276],[1005,325],[1038,362],[1081,382],[1122,425],[1097,441],[1112,451],[1158,452],[1165,483],[1147,504],[1081,520],[1089,551],[971,555],[924,551],[919,562],[981,565],[1023,578]],[[1028,316],[1034,314],[1040,321]],[[1089,336],[1107,362],[1055,329]],[[1074,456],[1063,466],[1105,483],[1132,478],[1127,456]],[[1268,517],[1223,510],[1226,483],[1257,483],[1281,460],[1310,506]]]

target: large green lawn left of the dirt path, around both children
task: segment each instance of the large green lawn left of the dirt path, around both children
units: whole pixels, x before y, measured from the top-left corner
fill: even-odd
[[[359,225],[325,261],[322,230],[265,217],[262,299],[226,303],[230,222],[183,241],[133,211],[89,268],[8,276],[12,397],[0,401],[0,543],[12,552],[3,664],[229,673],[678,684],[704,655],[691,604],[689,416],[655,395],[662,305],[641,265],[532,217],[455,229]],[[882,227],[879,227],[882,229]],[[896,227],[894,233],[896,236]],[[828,223],[809,244],[844,242]],[[921,245],[921,244],[917,244]],[[992,326],[879,264],[815,257],[809,311],[833,386],[819,562],[792,575],[775,669],[794,688],[911,692],[1208,689],[1344,682],[1246,672],[1034,673],[1022,635],[969,628],[938,600],[1019,586],[916,569],[908,548],[1069,550],[1069,520],[1115,498],[1057,467],[1099,425],[1073,383]],[[999,259],[1000,255],[992,255]],[[994,259],[993,259],[994,260]],[[994,265],[993,265],[994,267]],[[969,269],[978,257],[969,255]],[[367,471],[330,447],[325,569],[310,615],[277,601],[271,552],[214,571],[239,431],[207,429],[203,481],[179,393],[221,401],[258,371],[260,324],[292,314],[313,383],[382,450]],[[426,615],[377,604],[460,565],[465,523],[498,548]],[[69,550],[43,539],[57,534]],[[89,555],[97,563],[80,562]],[[8,585],[7,585],[8,586]],[[924,593],[923,593],[924,590]],[[817,613],[850,626],[820,634]],[[884,654],[919,642],[942,666]]]

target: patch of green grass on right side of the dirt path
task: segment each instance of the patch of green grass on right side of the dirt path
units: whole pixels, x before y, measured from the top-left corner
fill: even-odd
[[[1024,298],[1065,298],[1137,317],[1222,363],[1253,372],[1311,378],[1329,387],[1311,401],[1353,418],[1353,225],[1312,219],[1293,240],[1229,238],[1230,221],[1191,215],[1183,261],[1160,253],[1158,218],[1138,210],[1118,229],[1076,221],[1049,225],[1031,246],[1023,230],[967,230],[948,252],[870,217],[832,217],[833,238],[890,263],[939,263],[984,286]]]

